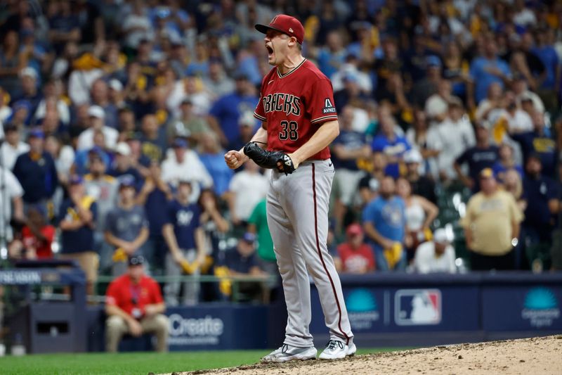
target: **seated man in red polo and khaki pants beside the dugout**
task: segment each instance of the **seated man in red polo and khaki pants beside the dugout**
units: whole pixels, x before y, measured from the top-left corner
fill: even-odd
[[[145,275],[145,258],[129,258],[126,274],[113,280],[107,288],[105,313],[105,338],[107,352],[117,352],[117,345],[125,333],[141,336],[155,333],[156,350],[168,350],[168,318],[162,292],[157,282]]]

